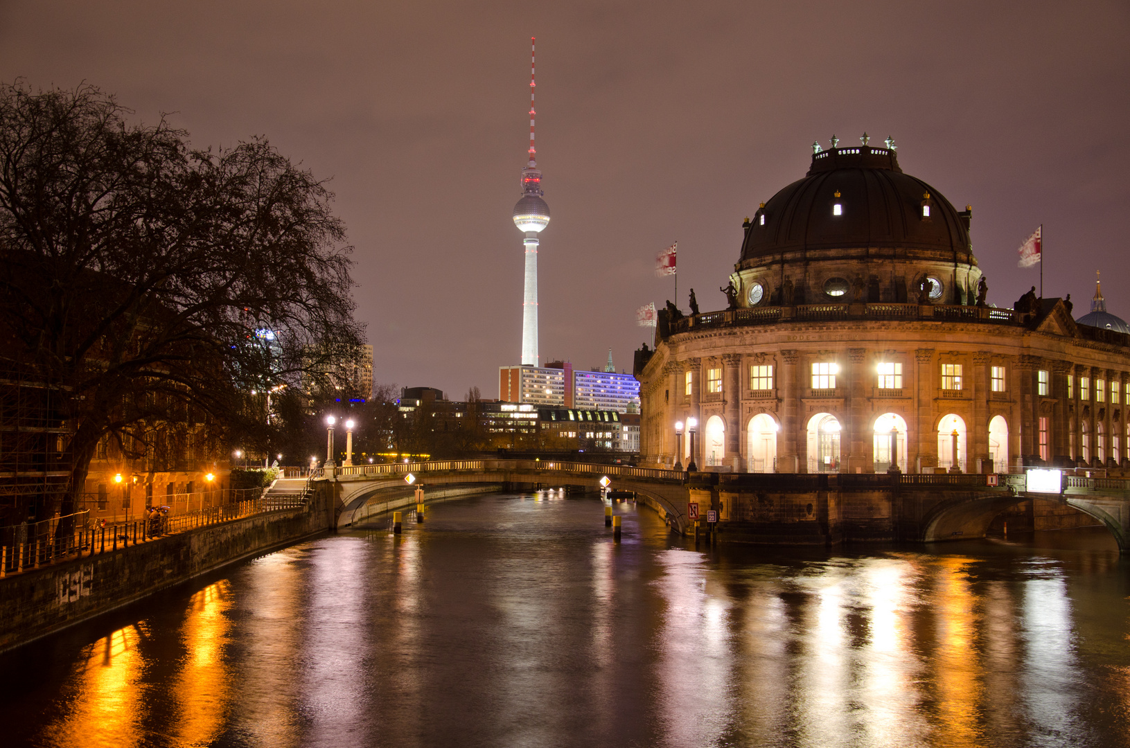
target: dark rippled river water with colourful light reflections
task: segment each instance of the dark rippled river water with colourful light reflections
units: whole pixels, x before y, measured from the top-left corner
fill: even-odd
[[[327,536],[0,658],[0,745],[1130,746],[1105,530],[695,549],[493,495]]]

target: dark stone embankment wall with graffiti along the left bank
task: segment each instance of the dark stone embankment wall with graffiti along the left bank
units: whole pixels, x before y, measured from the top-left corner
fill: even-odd
[[[325,532],[330,514],[329,503],[315,498],[0,579],[0,652]]]

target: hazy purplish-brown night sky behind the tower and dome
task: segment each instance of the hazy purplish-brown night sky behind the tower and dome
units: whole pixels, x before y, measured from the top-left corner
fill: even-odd
[[[1008,7],[1006,7],[1008,6]],[[679,242],[703,311],[741,221],[800,179],[809,145],[894,136],[958,207],[989,301],[1038,282],[1087,311],[1095,270],[1130,316],[1130,6],[1124,2],[50,2],[0,0],[0,78],[81,80],[195,145],[262,133],[333,177],[356,246],[374,377],[497,397],[521,353],[510,214],[538,37],[541,359],[618,368]],[[1120,176],[1121,175],[1121,176]]]

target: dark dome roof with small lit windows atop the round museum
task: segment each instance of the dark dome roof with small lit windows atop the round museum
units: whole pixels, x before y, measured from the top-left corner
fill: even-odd
[[[864,138],[861,140],[867,141]],[[738,267],[760,264],[784,252],[851,247],[940,253],[975,266],[971,210],[958,212],[932,186],[898,166],[894,143],[818,150],[805,179],[770,198],[746,228]]]

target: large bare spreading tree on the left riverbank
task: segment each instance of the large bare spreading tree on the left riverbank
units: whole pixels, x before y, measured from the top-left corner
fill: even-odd
[[[183,417],[254,430],[250,392],[356,355],[350,247],[325,183],[266,139],[193,150],[90,86],[0,86],[0,332],[62,393],[82,490],[99,440]]]

